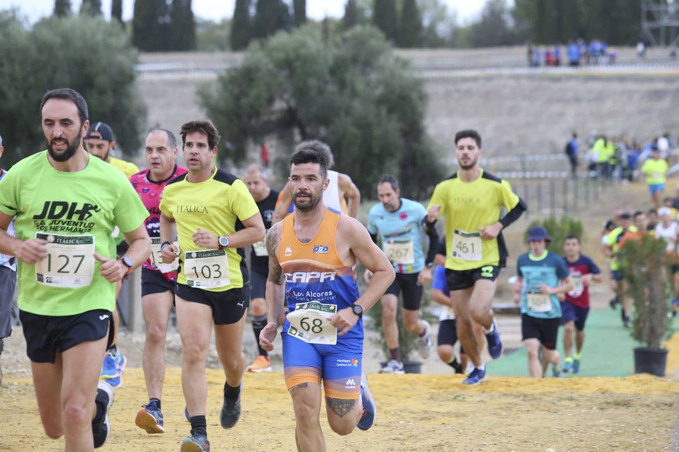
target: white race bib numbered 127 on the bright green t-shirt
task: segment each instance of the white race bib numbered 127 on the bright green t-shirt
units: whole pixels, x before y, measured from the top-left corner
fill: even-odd
[[[35,264],[35,281],[49,287],[86,287],[94,276],[94,236],[35,232],[48,255]]]

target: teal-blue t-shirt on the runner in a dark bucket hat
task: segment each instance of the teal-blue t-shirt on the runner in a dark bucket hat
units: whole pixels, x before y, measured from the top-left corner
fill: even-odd
[[[545,284],[547,287],[558,287],[560,280],[568,278],[568,268],[563,258],[549,251],[545,251],[540,258],[534,258],[530,253],[521,254],[517,260],[517,272],[524,279],[524,288],[521,289],[521,314],[537,319],[560,317],[559,297],[555,294],[543,295],[538,286]],[[549,297],[549,302],[540,303],[545,297]]]

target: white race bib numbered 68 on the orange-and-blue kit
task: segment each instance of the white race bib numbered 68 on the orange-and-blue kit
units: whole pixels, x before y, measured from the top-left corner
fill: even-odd
[[[337,344],[337,328],[328,321],[337,312],[337,305],[320,302],[297,303],[286,316],[290,323],[287,333],[309,344]]]

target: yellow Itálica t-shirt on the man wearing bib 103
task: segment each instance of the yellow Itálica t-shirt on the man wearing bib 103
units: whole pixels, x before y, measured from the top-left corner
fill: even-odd
[[[177,222],[180,265],[177,283],[214,292],[243,287],[248,281],[244,248],[226,248],[227,264],[224,265],[225,262],[219,260],[219,251],[198,253],[206,248],[198,247],[193,239],[198,228],[217,237],[233,234],[244,228],[243,220],[259,215],[257,203],[242,180],[217,168],[208,180],[195,184],[184,174],[165,186],[160,211]],[[187,258],[191,262],[185,265]],[[200,279],[207,284],[218,281],[220,285],[210,287],[191,282]]]

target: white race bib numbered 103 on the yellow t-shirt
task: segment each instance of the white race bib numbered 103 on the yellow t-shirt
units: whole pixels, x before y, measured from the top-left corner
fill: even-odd
[[[198,289],[215,289],[230,285],[229,259],[223,249],[186,251],[184,253],[186,284]]]

